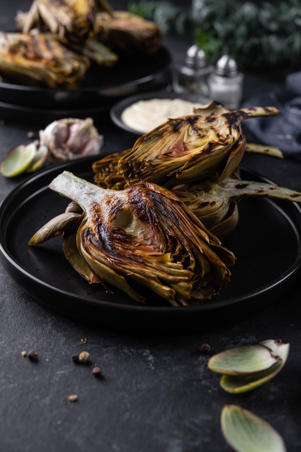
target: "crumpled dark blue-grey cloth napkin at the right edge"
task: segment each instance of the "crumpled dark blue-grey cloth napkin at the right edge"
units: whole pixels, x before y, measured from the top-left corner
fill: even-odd
[[[250,118],[244,122],[259,143],[278,146],[286,157],[301,161],[301,72],[286,78],[286,89],[259,94],[242,107],[276,107],[278,116]]]

